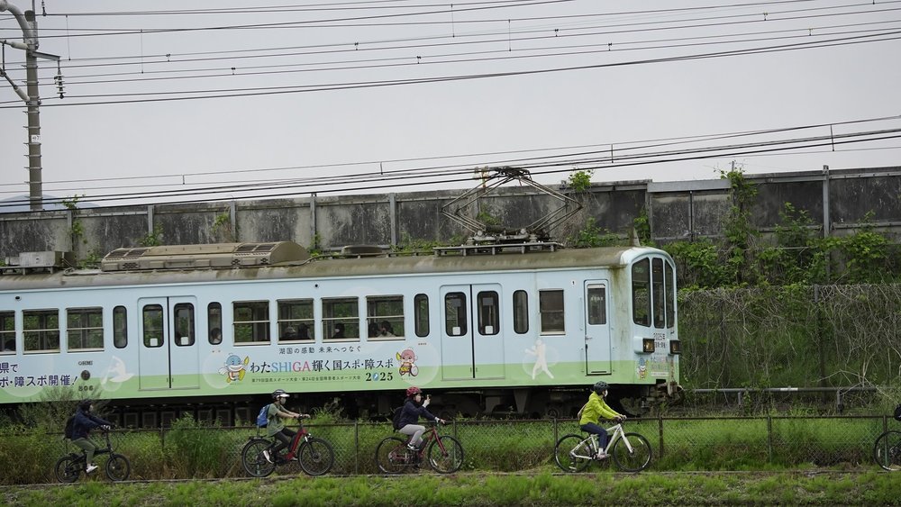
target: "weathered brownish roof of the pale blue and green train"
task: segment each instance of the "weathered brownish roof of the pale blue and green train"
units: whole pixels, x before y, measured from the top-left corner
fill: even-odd
[[[76,270],[5,274],[0,276],[0,291],[122,286],[122,285],[172,285],[203,284],[216,281],[253,281],[277,279],[325,279],[363,276],[415,276],[436,273],[464,273],[490,271],[532,271],[566,269],[574,267],[603,267],[617,269],[627,266],[633,259],[648,253],[669,257],[660,249],[649,247],[601,247],[593,249],[542,249],[528,253],[499,251],[487,255],[374,255],[346,254],[336,258],[309,257],[303,247],[290,241],[279,242],[279,247],[268,248],[279,252],[267,262],[255,266],[233,264],[216,267],[200,262],[193,267],[137,269],[137,270]],[[242,245],[242,247],[241,247]],[[193,245],[170,246],[157,252],[166,255],[178,251],[226,255],[225,250],[251,250],[258,243],[229,243],[226,246]],[[268,245],[271,245],[269,243]],[[181,250],[179,250],[181,249]],[[113,255],[119,252],[111,252]],[[288,252],[288,253],[286,253]],[[285,255],[281,255],[284,253]],[[290,255],[289,255],[290,254]],[[187,256],[188,254],[186,254]],[[192,254],[193,255],[193,254]],[[199,254],[198,254],[199,255]],[[107,256],[110,258],[110,256]],[[107,259],[105,258],[105,260]],[[182,259],[187,262],[187,257]],[[205,264],[207,264],[205,266]],[[187,266],[187,264],[186,264]]]

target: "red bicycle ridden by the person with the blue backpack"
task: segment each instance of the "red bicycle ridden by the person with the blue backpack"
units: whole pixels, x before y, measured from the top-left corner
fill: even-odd
[[[309,417],[309,416],[307,416]],[[270,463],[263,456],[263,451],[276,443],[275,437],[250,437],[250,441],[241,449],[241,465],[244,471],[253,477],[265,477],[275,471],[276,466],[297,461],[306,475],[323,475],[332,469],[335,452],[332,444],[314,437],[297,419],[297,432],[287,447],[284,457],[275,457]]]

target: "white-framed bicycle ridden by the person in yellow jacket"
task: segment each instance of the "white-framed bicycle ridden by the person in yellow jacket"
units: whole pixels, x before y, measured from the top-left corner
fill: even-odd
[[[641,472],[651,464],[651,444],[638,433],[626,433],[623,422],[607,428],[611,435],[605,451],[623,472]],[[597,461],[597,435],[564,435],[554,446],[554,460],[564,472],[581,472]]]

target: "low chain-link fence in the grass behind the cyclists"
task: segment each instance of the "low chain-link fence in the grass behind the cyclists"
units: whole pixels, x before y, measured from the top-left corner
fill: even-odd
[[[629,420],[625,430],[651,442],[649,470],[755,470],[874,467],[876,438],[896,426],[887,416],[662,417]],[[396,435],[385,423],[311,425],[309,430],[332,444],[332,475],[378,474],[378,442]],[[560,472],[554,465],[554,443],[563,435],[580,434],[572,420],[453,421],[440,432],[460,440],[461,472]],[[245,476],[241,448],[258,435],[253,427],[116,430],[114,448],[131,460],[132,479],[238,477]],[[0,459],[15,464],[0,474],[0,483],[56,482],[53,465],[68,452],[77,449],[59,435],[0,432]],[[105,457],[97,459],[102,464]],[[276,470],[277,475],[300,473],[296,463]]]

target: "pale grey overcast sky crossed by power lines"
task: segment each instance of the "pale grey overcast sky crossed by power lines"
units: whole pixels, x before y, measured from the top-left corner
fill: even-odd
[[[38,60],[43,192],[81,202],[901,165],[901,1],[9,4],[59,56]],[[23,61],[3,46],[18,86]],[[29,193],[24,112],[0,79],[0,200]]]

